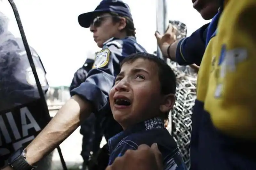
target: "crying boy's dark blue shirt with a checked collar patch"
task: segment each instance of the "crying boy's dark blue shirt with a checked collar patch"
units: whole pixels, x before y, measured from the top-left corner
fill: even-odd
[[[139,145],[151,146],[157,143],[159,151],[163,156],[163,167],[165,170],[186,170],[179,148],[164,128],[164,121],[155,117],[116,134],[108,140],[110,158],[108,165],[111,165],[117,157],[123,156],[128,150],[137,150]]]

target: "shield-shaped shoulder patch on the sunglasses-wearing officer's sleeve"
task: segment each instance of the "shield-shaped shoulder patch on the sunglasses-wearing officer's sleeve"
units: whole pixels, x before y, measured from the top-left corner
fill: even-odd
[[[108,64],[110,51],[108,49],[101,50],[97,53],[92,68],[101,68]]]

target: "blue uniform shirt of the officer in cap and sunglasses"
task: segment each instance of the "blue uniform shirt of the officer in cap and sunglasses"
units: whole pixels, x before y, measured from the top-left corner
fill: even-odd
[[[102,50],[97,54],[87,79],[81,83],[79,87],[71,90],[71,95],[79,95],[91,101],[95,106],[94,113],[96,113],[96,116],[109,115],[109,108],[107,107],[108,94],[113,86],[115,76],[120,72],[119,63],[126,56],[139,52],[146,52],[146,50],[140,46],[132,36],[124,39],[109,39],[104,43]],[[99,112],[101,113],[100,115],[97,114]],[[120,127],[119,129],[121,131],[121,126],[117,122],[116,124]]]

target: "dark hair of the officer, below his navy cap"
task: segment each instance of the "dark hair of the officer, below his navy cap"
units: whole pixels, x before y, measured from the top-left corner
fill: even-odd
[[[134,28],[134,24],[133,22],[130,20],[130,18],[128,17],[125,17],[125,16],[122,16],[122,15],[118,15],[116,13],[113,13],[113,12],[110,12],[110,15],[113,16],[113,22],[116,23],[116,22],[119,22],[120,21],[120,18],[119,17],[124,17],[126,19],[126,26],[124,28],[124,31],[126,32],[127,36],[133,36],[135,37],[135,30],[136,28]]]

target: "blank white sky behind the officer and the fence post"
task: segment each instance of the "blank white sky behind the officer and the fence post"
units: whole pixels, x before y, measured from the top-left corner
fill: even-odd
[[[69,86],[74,72],[86,56],[99,50],[89,29],[78,24],[77,16],[93,11],[100,0],[14,0],[30,46],[40,55],[50,86]],[[156,0],[124,0],[132,11],[137,41],[149,53],[156,51]],[[205,21],[190,0],[169,0],[168,17],[188,26],[188,35]],[[1,3],[1,2],[0,2]],[[2,0],[0,10],[10,18],[9,30],[20,37],[12,9]]]

